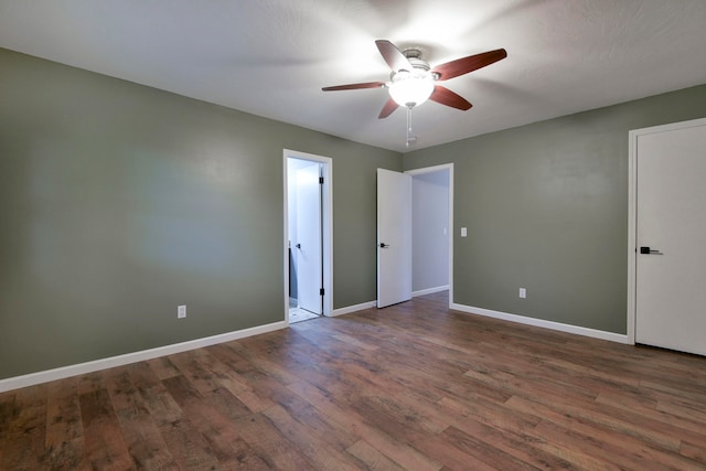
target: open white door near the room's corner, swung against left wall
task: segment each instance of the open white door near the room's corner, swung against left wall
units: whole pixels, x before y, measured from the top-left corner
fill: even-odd
[[[411,176],[377,169],[377,307],[411,299]]]

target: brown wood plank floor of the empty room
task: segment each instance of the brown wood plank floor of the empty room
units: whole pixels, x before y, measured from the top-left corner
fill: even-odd
[[[0,394],[0,469],[706,469],[705,357],[446,296]]]

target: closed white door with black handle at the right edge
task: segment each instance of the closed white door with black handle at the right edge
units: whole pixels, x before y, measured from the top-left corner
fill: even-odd
[[[706,355],[706,121],[637,137],[635,341]]]

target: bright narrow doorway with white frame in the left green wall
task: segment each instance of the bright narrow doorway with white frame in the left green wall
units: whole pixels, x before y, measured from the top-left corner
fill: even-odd
[[[288,323],[332,311],[331,159],[284,151],[285,312]]]

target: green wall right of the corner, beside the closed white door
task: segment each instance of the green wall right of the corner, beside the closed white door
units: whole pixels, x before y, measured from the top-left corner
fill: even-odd
[[[706,85],[405,154],[454,165],[453,301],[627,333],[628,131],[704,116]]]

